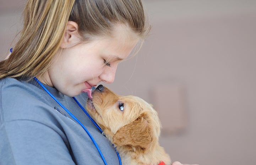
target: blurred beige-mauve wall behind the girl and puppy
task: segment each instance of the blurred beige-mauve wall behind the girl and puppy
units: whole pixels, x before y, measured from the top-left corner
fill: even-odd
[[[1,57],[21,27],[23,4],[1,0]],[[145,4],[151,35],[136,57],[119,65],[115,82],[107,86],[158,106],[165,129],[160,143],[173,161],[254,165],[256,1]]]

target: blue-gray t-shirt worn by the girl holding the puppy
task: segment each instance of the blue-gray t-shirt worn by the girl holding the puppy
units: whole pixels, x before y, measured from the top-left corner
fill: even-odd
[[[108,165],[112,144],[72,97],[45,87],[87,128]],[[85,106],[87,94],[76,97]],[[56,110],[57,109],[57,110]],[[0,79],[0,165],[104,165],[86,131],[33,79]]]

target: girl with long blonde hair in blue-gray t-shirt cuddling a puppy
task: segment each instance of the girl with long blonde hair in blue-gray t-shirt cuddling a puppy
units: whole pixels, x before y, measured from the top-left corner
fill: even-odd
[[[121,164],[84,105],[149,29],[140,0],[28,0],[0,62],[0,164]]]

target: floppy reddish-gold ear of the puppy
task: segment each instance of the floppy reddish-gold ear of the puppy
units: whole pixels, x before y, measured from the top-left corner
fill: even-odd
[[[153,139],[152,129],[145,117],[140,116],[133,122],[121,127],[113,136],[113,143],[147,149]]]

